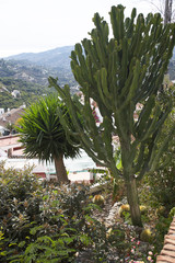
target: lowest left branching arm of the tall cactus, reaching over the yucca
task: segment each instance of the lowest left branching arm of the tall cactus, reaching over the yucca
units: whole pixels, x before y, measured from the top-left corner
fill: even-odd
[[[61,123],[66,127],[67,133],[69,134],[68,135],[69,140],[71,141],[71,136],[79,135],[81,137],[81,147],[83,149],[85,149],[88,155],[96,163],[100,163],[101,165],[106,165],[106,164],[112,165],[113,167],[112,170],[115,171],[115,173],[117,173],[118,175],[120,175],[120,171],[117,168],[115,168],[115,163],[110,163],[113,161],[112,160],[112,158],[113,158],[113,147],[112,147],[112,138],[110,138],[112,134],[110,134],[109,130],[113,129],[113,126],[112,126],[110,122],[108,122],[108,118],[106,117],[106,121],[104,122],[104,125],[105,126],[107,125],[108,129],[106,129],[106,132],[104,133],[104,138],[105,139],[104,139],[104,146],[103,146],[101,137],[97,136],[98,132],[97,132],[97,127],[95,125],[95,121],[94,121],[93,115],[92,115],[92,110],[90,107],[90,102],[88,102],[88,100],[85,100],[84,111],[88,112],[88,116],[90,116],[89,121],[88,121],[88,126],[91,126],[91,127],[93,126],[94,127],[92,137],[90,137],[90,133],[86,134],[85,130],[82,129],[82,125],[78,121],[79,118],[78,118],[78,115],[77,115],[77,111],[78,111],[79,107],[77,107],[77,110],[75,110],[75,105],[73,104],[72,99],[70,96],[69,87],[65,85],[63,91],[62,91],[62,89],[57,84],[57,82],[54,79],[51,79],[51,80],[52,81],[50,81],[50,84],[54,83],[57,87],[57,90],[61,93],[62,99],[65,99],[66,103],[69,104],[70,113],[73,113],[73,114],[71,114],[73,124],[75,126],[75,129],[79,130],[78,134],[73,133],[71,127],[69,126],[68,119],[65,116],[61,116],[61,113],[59,112]],[[109,124],[110,124],[110,128],[109,128]],[[96,132],[95,132],[95,129],[96,129]],[[110,151],[109,156],[106,155],[106,149],[107,149],[107,151]],[[105,160],[105,161],[102,162],[100,160]]]

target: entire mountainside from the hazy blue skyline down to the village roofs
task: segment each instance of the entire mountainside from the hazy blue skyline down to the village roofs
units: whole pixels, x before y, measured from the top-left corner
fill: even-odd
[[[70,69],[71,47],[38,54],[20,54],[0,59],[0,107],[18,107],[37,96],[55,91],[48,89],[48,77],[58,77],[59,84],[69,84],[72,93],[77,82]],[[12,91],[20,91],[13,98]]]

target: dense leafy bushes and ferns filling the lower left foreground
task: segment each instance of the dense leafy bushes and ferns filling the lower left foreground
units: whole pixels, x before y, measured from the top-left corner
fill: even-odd
[[[124,229],[117,227],[115,241],[106,237],[106,227],[92,216],[97,206],[89,186],[40,184],[30,170],[1,163],[0,190],[0,261],[74,262],[75,252],[91,248],[94,261],[103,262],[114,245],[124,253]]]

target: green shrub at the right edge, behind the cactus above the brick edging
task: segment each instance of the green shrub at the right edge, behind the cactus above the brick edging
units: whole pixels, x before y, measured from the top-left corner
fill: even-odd
[[[168,100],[168,96],[173,100],[173,111],[168,115],[168,118],[164,123],[163,136],[167,136],[167,130],[174,125],[174,108],[175,108],[175,87],[166,88],[163,93],[160,93],[160,104],[164,100]],[[168,94],[168,96],[167,96]],[[163,104],[163,103],[162,103]],[[162,139],[162,138],[161,138]],[[156,198],[159,206],[164,206],[166,209],[166,216],[172,207],[175,206],[175,133],[170,140],[168,148],[164,155],[160,158],[160,167],[152,174],[148,174],[148,183],[150,185],[151,195]]]

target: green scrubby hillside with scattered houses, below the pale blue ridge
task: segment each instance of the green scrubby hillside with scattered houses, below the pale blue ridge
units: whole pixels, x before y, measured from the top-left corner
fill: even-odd
[[[39,96],[49,94],[48,77],[59,77],[61,85],[69,83],[75,87],[70,70],[65,68],[44,68],[26,60],[0,59],[0,106],[3,108],[19,107],[25,103],[37,101]],[[12,91],[19,90],[20,96],[13,98]],[[72,92],[74,92],[72,88]]]

